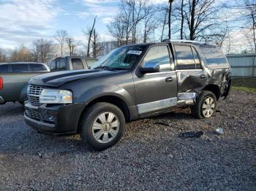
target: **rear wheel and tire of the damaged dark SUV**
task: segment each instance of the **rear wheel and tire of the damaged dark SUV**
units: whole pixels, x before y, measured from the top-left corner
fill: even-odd
[[[216,107],[217,99],[214,93],[202,91],[197,97],[197,103],[192,106],[192,116],[197,119],[209,118],[215,113]]]

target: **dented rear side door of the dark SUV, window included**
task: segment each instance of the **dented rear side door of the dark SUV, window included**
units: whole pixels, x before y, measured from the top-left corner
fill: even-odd
[[[194,46],[174,44],[178,93],[196,92],[208,80],[208,76]]]

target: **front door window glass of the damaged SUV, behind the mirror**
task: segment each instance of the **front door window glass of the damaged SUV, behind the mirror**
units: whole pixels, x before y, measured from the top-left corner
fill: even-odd
[[[170,71],[170,55],[167,46],[151,47],[146,54],[144,63],[159,63],[160,71]]]

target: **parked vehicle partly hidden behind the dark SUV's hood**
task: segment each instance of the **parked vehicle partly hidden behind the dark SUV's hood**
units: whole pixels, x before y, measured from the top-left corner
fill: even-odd
[[[48,66],[50,71],[90,69],[97,62],[96,58],[84,58],[80,56],[66,56],[55,58]]]

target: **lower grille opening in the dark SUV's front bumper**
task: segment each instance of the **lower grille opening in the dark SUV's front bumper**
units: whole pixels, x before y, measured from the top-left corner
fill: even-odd
[[[34,120],[39,120],[42,122],[51,122],[51,123],[56,122],[56,116],[49,115],[49,114],[42,114],[40,112],[37,112],[36,109],[26,109],[25,114],[26,116]]]

